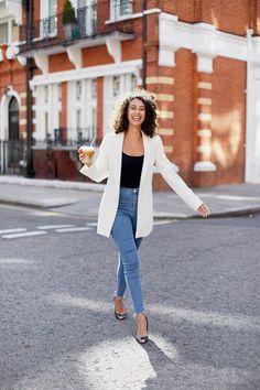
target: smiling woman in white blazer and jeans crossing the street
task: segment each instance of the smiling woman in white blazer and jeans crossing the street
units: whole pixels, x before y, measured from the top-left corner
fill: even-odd
[[[153,226],[152,174],[155,164],[187,205],[207,217],[207,206],[175,173],[164,153],[163,143],[155,134],[158,107],[154,96],[147,91],[130,95],[118,106],[113,123],[115,133],[104,137],[96,162],[79,148],[85,164],[80,172],[95,182],[107,178],[98,215],[97,232],[111,234],[118,250],[115,315],[126,319],[123,306],[126,288],[132,299],[137,317],[137,340],[148,342],[148,318],[142,296],[138,248]]]

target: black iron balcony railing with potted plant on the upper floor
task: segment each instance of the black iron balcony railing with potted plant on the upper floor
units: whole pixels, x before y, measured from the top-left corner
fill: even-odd
[[[120,7],[124,6],[124,10],[130,10],[130,3],[131,0],[123,0]],[[112,2],[112,7],[115,10],[111,11],[109,1],[94,0],[89,6],[76,9],[75,19],[69,24],[64,24],[64,13],[59,13],[37,20],[32,26],[22,25],[20,26],[20,41],[22,42],[20,52],[66,45],[76,40],[100,36],[113,31],[132,33],[131,20],[121,21],[120,18],[118,20],[115,18],[118,14],[119,0]],[[116,23],[106,24],[105,21],[109,20],[112,12]]]

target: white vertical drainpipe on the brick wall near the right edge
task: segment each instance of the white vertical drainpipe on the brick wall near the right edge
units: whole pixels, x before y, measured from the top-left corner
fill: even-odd
[[[246,148],[245,148],[245,182],[252,178],[252,145],[253,145],[253,126],[252,126],[252,82],[251,82],[251,56],[252,56],[252,35],[253,30],[247,30],[247,102],[246,102]]]

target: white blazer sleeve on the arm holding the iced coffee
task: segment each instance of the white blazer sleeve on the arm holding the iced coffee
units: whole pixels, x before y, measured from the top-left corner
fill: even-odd
[[[99,148],[98,158],[96,162],[93,162],[90,166],[86,164],[79,170],[85,176],[88,176],[94,182],[100,183],[105,178],[108,177],[108,143],[109,143],[109,134],[106,134],[102,139],[102,142]]]

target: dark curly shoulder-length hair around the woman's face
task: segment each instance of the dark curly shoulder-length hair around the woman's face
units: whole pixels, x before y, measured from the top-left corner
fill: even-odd
[[[149,137],[153,137],[158,129],[158,106],[155,96],[144,89],[138,89],[127,96],[115,110],[112,127],[116,133],[123,132],[128,129],[128,107],[133,99],[142,100],[145,107],[145,118],[141,124],[141,130]]]

